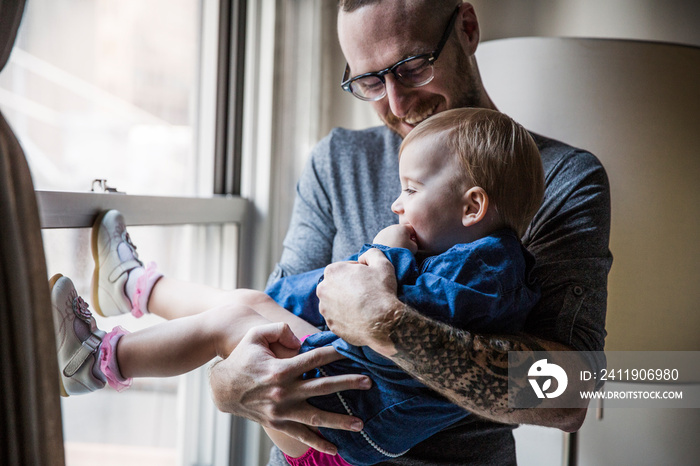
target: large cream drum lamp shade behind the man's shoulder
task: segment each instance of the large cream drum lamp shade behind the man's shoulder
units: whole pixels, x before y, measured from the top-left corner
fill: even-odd
[[[700,48],[517,38],[477,59],[499,110],[608,172],[606,349],[700,350]]]

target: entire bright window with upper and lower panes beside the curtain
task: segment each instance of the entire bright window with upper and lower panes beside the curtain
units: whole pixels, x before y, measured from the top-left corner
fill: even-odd
[[[249,204],[212,194],[239,165],[240,142],[225,133],[241,107],[222,113],[217,95],[236,101],[229,70],[242,47],[232,48],[238,31],[229,28],[240,22],[227,21],[244,8],[235,0],[27,2],[0,75],[0,107],[37,189],[49,274],[70,277],[86,301],[89,226],[107,208],[125,214],[142,258],[169,276],[235,286]],[[95,179],[127,195],[90,192]],[[158,321],[98,324],[138,330]],[[206,369],[66,398],[62,416],[68,465],[229,461],[230,417],[211,402]]]

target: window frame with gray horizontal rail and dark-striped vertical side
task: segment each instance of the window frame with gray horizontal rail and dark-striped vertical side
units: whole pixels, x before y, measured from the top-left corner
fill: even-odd
[[[202,128],[214,129],[213,138],[209,134],[199,137],[197,142],[199,153],[213,151],[213,164],[203,164],[200,160],[198,169],[200,180],[205,186],[211,186],[211,191],[200,192],[200,197],[176,197],[37,190],[42,229],[90,227],[97,214],[106,209],[120,210],[133,226],[220,225],[222,237],[237,239],[237,245],[233,241],[224,242],[231,246],[222,254],[235,254],[236,263],[229,264],[232,270],[223,271],[223,275],[238,277],[238,286],[250,286],[241,278],[252,270],[250,250],[254,223],[254,203],[241,196],[245,56],[249,53],[247,6],[247,0],[202,2],[203,47],[210,46],[214,37],[213,34],[204,37],[207,29],[214,30],[216,37],[215,88],[211,89],[211,84],[202,79],[201,69],[198,81],[200,98],[202,93],[209,96],[198,111],[200,134]],[[259,9],[257,2],[256,8]],[[211,50],[203,51],[205,53]],[[200,57],[200,68],[211,70],[211,62],[211,57]],[[207,177],[213,177],[213,183]],[[224,245],[224,249],[227,248]],[[260,463],[261,450],[267,448],[266,440],[261,437],[262,430],[249,421],[215,409],[208,399],[206,370],[189,376],[186,386],[184,404],[187,409],[183,415],[186,432],[181,436],[184,444],[178,446],[179,462],[233,465],[243,464],[240,460],[245,458],[246,464]],[[202,431],[206,433],[205,441],[202,441]]]

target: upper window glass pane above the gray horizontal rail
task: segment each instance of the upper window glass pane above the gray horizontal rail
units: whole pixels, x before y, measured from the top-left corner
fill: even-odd
[[[0,107],[40,190],[196,194],[202,0],[32,0]]]

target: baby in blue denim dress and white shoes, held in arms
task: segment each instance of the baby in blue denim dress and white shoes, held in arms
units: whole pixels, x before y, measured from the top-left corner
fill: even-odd
[[[544,192],[539,152],[528,132],[496,111],[449,110],[412,130],[399,157],[402,192],[392,205],[399,223],[349,260],[380,249],[394,265],[399,298],[433,319],[481,333],[522,330],[539,293],[529,279],[534,260],[519,238]],[[93,299],[100,314],[150,310],[180,318],[135,333],[117,327],[105,334],[70,280],[52,278],[64,396],[106,383],[122,390],[132,377],[188,372],[216,356],[226,358],[251,327],[281,321],[305,339],[302,352],[332,345],[347,358],[307,377],[362,373],[373,380],[367,391],[309,399],[364,421],[360,432],[320,429],[338,447],[337,456],[266,429],[292,465],[375,464],[469,414],[370,348],[319,330],[325,322],[315,290],[323,269],[280,279],[267,294],[207,288],[209,299],[193,299],[202,296],[201,286],[175,286],[143,267],[116,211],[97,220],[93,254]],[[212,306],[224,298],[227,303]]]

